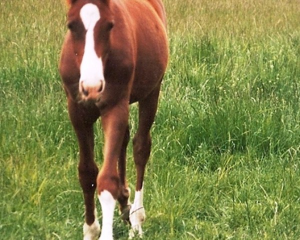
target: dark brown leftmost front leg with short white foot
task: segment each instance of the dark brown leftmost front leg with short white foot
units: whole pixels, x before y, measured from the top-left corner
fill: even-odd
[[[89,116],[85,115],[86,112],[71,100],[68,100],[68,112],[79,145],[78,177],[85,205],[83,239],[94,240],[98,238],[100,233],[100,225],[96,219],[94,203],[98,168],[94,162],[94,136],[92,127],[97,115],[92,114],[93,117],[89,118]]]

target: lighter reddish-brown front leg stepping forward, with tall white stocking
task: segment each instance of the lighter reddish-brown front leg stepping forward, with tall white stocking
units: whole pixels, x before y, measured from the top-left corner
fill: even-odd
[[[113,211],[121,190],[117,161],[128,125],[128,108],[128,101],[124,101],[101,116],[104,131],[104,161],[97,177],[97,192],[102,208],[100,240],[113,239]]]

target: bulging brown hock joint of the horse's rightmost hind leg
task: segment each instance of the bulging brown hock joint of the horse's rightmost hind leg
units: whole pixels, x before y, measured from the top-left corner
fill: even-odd
[[[148,134],[135,134],[133,137],[133,154],[136,165],[145,165],[151,150],[151,136]]]

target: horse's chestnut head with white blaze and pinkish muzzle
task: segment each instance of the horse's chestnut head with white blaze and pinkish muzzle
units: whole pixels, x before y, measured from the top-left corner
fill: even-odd
[[[79,97],[97,101],[105,88],[104,68],[113,18],[108,0],[69,0],[67,27],[80,71]]]

